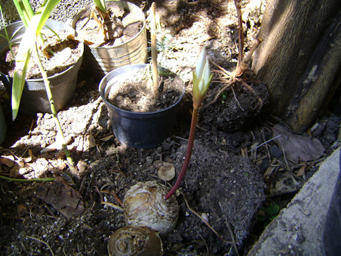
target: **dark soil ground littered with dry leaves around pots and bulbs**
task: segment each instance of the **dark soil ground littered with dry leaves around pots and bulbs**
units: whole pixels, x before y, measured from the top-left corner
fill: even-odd
[[[149,8],[145,1],[138,4],[143,11]],[[243,1],[246,48],[261,24],[261,6],[261,1],[258,6]],[[196,58],[206,44],[212,60],[234,69],[236,11],[232,1],[165,1],[158,12],[171,35],[163,41],[161,65],[184,80],[186,94],[173,133],[157,148],[131,148],[114,137],[98,81],[81,70],[73,101],[58,113],[77,166],[73,171],[60,150],[52,115],[19,114],[10,121],[10,101],[1,89],[8,133],[0,148],[0,175],[56,180],[1,180],[0,255],[107,255],[110,235],[125,223],[122,212],[101,202],[119,204],[112,192],[123,199],[139,181],[164,183],[158,177],[160,160],[172,163],[179,174],[189,137]],[[266,97],[262,111],[250,111],[251,121],[237,118],[238,111],[245,112],[240,106],[255,108],[254,99],[247,97],[252,94],[235,86],[236,97],[227,89],[200,112],[191,163],[177,196],[179,219],[173,232],[161,236],[164,255],[236,255],[234,247],[245,255],[265,225],[338,146],[340,113],[324,112],[309,133],[294,137],[284,129],[292,142],[304,139],[315,146],[299,159],[299,150],[289,154],[292,148],[279,142],[274,125],[281,121],[268,114]],[[216,95],[217,87],[222,85],[211,84],[207,99]],[[227,115],[226,108],[235,116]]]

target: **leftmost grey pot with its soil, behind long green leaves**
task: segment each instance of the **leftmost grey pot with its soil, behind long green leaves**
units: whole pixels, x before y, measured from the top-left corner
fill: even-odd
[[[10,41],[12,43],[12,49],[17,49],[17,44],[21,42],[21,38],[25,33],[24,25],[22,22],[15,22],[7,26],[6,31],[8,36],[10,38],[12,37]],[[4,29],[0,33],[5,35]],[[73,28],[52,19],[47,20],[46,27],[44,27],[44,32],[42,33],[46,33],[46,37],[49,37],[52,41],[53,37],[55,37],[54,42],[49,45],[49,51],[45,52],[44,56],[42,56],[42,62],[49,76],[55,109],[59,111],[67,105],[76,91],[77,75],[82,64],[84,45],[82,42],[66,38],[67,35],[75,34]],[[65,40],[61,39],[61,35],[65,35]],[[15,58],[11,55],[8,41],[0,37],[1,81],[8,93],[12,92],[13,78],[11,76],[11,70],[14,70],[15,65]],[[30,71],[28,71],[30,76],[26,76],[26,83],[19,108],[24,114],[51,112],[50,103],[46,96],[44,80],[41,78],[40,72],[35,71],[36,68],[37,65],[34,65],[34,63],[30,65]]]

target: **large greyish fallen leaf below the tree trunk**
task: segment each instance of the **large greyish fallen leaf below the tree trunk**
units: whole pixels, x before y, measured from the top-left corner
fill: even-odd
[[[277,137],[274,142],[283,148],[286,157],[293,162],[316,160],[324,153],[324,148],[320,140],[291,133],[279,124],[272,127],[272,136]]]

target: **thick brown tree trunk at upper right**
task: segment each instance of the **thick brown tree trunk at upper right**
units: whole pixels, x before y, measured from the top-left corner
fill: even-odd
[[[265,10],[252,69],[268,85],[273,113],[307,130],[335,90],[340,70],[337,0],[272,0]]]

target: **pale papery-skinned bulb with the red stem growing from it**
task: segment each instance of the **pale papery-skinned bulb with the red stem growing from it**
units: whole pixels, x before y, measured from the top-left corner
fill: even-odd
[[[123,199],[127,225],[146,226],[160,234],[173,230],[179,216],[174,196],[165,200],[168,189],[156,182],[138,182],[130,187]]]

